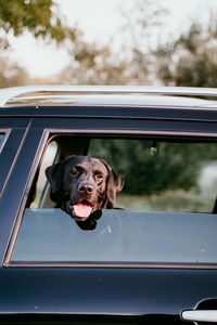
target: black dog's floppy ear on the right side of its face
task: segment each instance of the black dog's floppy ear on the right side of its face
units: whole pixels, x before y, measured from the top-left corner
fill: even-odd
[[[111,203],[114,203],[116,199],[116,193],[120,192],[124,186],[123,179],[110,167],[110,165],[101,159],[101,161],[105,165],[108,171],[108,180],[107,180],[107,198]]]

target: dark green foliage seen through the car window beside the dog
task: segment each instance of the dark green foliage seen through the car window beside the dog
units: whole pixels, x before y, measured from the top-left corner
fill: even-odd
[[[139,140],[93,140],[89,154],[111,164],[125,180],[123,193],[133,195],[188,191],[196,186],[203,164],[217,159],[215,144]]]

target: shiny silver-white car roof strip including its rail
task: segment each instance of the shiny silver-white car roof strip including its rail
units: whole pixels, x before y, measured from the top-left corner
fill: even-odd
[[[142,86],[28,86],[0,89],[0,106],[217,108],[217,89]]]

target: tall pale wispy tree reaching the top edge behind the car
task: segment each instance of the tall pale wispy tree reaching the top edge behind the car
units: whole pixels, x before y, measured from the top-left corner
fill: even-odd
[[[168,11],[156,0],[135,0],[123,11],[126,22],[123,38],[126,39],[125,51],[130,53],[130,82],[133,84],[153,84],[156,81],[152,52],[167,14]]]

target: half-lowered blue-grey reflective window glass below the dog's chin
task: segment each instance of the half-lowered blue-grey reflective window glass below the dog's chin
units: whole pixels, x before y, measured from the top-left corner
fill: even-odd
[[[26,209],[12,261],[216,263],[216,227],[215,214],[112,209],[84,232],[60,209]]]

